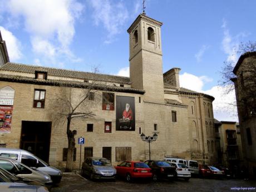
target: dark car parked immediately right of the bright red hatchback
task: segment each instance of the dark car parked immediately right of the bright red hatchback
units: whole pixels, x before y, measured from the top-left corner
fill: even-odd
[[[166,161],[147,160],[145,164],[149,165],[152,169],[152,178],[154,181],[157,179],[174,179],[177,175],[176,168],[166,163]]]

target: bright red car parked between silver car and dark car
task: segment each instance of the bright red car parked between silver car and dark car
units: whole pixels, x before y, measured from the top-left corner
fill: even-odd
[[[116,167],[116,174],[130,182],[135,178],[152,178],[149,166],[140,161],[124,161]]]

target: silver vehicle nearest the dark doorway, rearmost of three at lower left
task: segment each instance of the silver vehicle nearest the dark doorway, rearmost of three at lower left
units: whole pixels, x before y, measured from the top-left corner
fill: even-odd
[[[62,171],[53,168],[45,161],[41,160],[40,158],[31,154],[28,151],[22,149],[8,149],[0,147],[0,156],[9,157],[31,168],[36,168],[37,170],[45,172],[46,174],[51,176],[53,183],[60,183],[61,181]]]

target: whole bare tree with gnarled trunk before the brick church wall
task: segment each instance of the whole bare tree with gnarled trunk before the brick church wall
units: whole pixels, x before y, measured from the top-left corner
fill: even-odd
[[[91,73],[90,80],[85,82],[77,81],[60,81],[58,82],[59,91],[52,102],[52,120],[55,124],[66,122],[66,134],[68,140],[67,150],[67,172],[72,171],[73,167],[73,151],[75,149],[76,130],[71,130],[71,122],[75,119],[88,119],[94,117],[92,102],[88,99],[93,97],[94,104],[97,90],[104,90],[106,85],[96,81],[96,73]],[[57,112],[56,112],[57,111]],[[66,120],[66,121],[63,121]]]

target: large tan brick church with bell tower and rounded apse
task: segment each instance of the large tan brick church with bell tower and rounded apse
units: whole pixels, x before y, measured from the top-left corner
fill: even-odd
[[[77,131],[74,168],[79,137],[85,138],[82,161],[87,156],[104,156],[113,164],[149,159],[142,132],[158,135],[150,145],[151,159],[173,155],[216,162],[214,97],[180,87],[180,68],[163,73],[162,24],[140,14],[127,30],[130,78],[12,63],[0,37],[0,145],[65,166],[67,121],[58,114],[67,103],[75,105],[87,87],[85,107],[78,111],[95,116],[71,122]],[[60,100],[66,102],[56,105]]]

